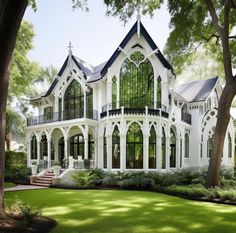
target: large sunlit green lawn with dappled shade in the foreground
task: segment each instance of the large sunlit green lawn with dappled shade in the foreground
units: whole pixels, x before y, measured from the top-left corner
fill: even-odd
[[[59,225],[54,233],[235,233],[236,206],[180,199],[142,191],[47,189],[6,192]]]

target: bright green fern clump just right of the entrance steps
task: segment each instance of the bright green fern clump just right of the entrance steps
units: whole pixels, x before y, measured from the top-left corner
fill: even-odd
[[[98,179],[96,174],[91,171],[75,171],[71,178],[75,181],[77,187],[88,187],[92,186]]]

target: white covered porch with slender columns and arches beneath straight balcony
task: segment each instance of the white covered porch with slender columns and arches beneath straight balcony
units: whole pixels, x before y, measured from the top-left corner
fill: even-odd
[[[27,137],[28,166],[43,171],[55,165],[62,169],[90,169],[97,163],[96,126],[74,124],[33,130]]]

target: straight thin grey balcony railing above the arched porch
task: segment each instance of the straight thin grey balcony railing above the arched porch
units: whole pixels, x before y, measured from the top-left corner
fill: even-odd
[[[52,112],[47,115],[39,115],[36,117],[27,118],[27,126],[47,124],[57,121],[67,121],[79,118],[87,118],[92,120],[98,119],[98,112],[96,110],[87,109],[72,109],[69,111]]]

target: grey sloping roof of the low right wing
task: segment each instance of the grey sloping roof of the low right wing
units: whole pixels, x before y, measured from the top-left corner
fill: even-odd
[[[211,94],[217,80],[218,77],[215,77],[177,85],[174,91],[190,103],[204,101]]]

